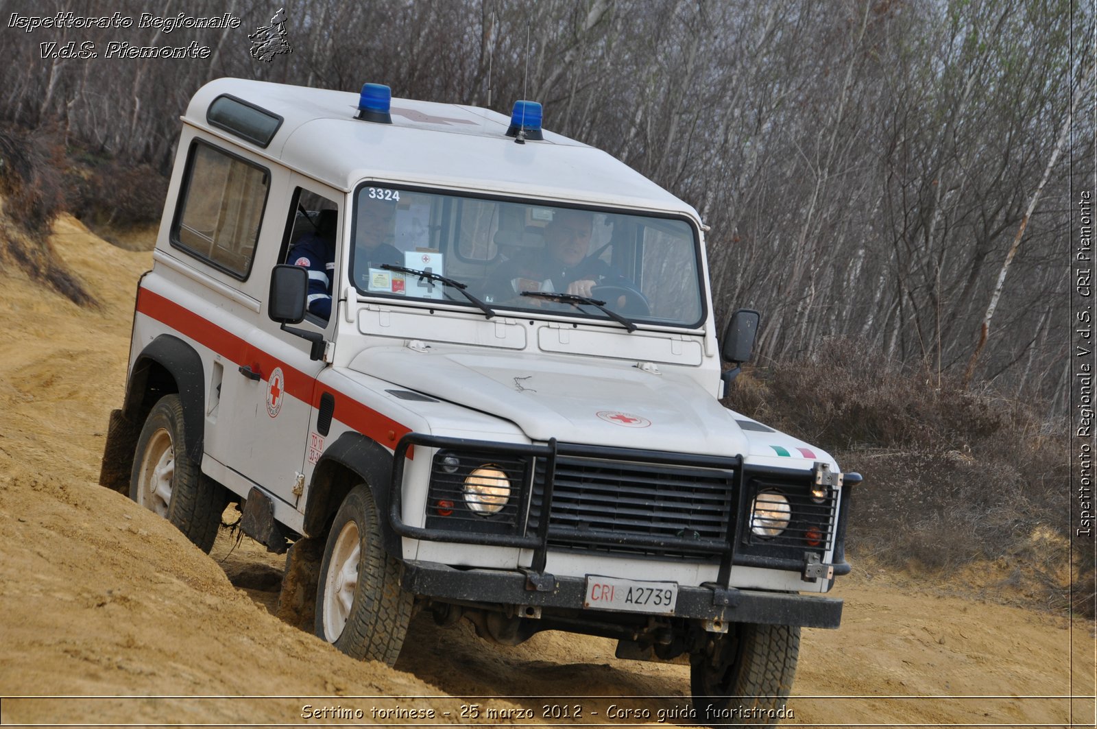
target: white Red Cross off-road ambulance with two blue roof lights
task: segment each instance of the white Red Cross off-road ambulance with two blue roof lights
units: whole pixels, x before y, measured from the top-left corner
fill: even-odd
[[[420,609],[604,636],[688,654],[698,720],[771,721],[860,476],[720,404],[758,315],[717,337],[704,229],[535,103],[213,81],[101,481],[206,550],[239,503],[352,655]]]

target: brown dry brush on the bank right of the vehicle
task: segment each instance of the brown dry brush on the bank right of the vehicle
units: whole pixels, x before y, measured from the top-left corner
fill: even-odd
[[[740,377],[728,405],[864,475],[852,492],[850,550],[932,573],[976,560],[1024,563],[1048,593],[1058,591],[1041,602],[1065,605],[1065,424],[1041,417],[1040,403],[970,392],[950,378],[938,386],[936,375],[904,371],[860,343],[828,341],[821,351],[825,359]],[[1042,531],[1059,538],[1032,538]],[[1093,565],[1075,567],[1078,588],[1092,585]]]

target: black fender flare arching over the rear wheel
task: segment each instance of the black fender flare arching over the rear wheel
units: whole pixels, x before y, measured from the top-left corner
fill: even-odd
[[[137,356],[126,386],[126,401],[122,408],[132,420],[140,420],[143,406],[151,407],[159,400],[158,396],[148,402],[149,394],[152,394],[150,388],[158,388],[158,383],[148,381],[152,363],[167,370],[176,381],[183,405],[183,429],[190,446],[188,456],[201,463],[205,433],[205,370],[202,357],[191,345],[170,334],[161,334],[150,341]],[[163,394],[168,393],[163,392],[160,396]]]

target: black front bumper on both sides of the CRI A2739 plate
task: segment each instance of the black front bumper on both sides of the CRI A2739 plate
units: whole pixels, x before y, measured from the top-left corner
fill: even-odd
[[[404,588],[444,601],[583,610],[584,577],[536,575],[511,570],[462,570],[437,562],[406,561]],[[679,585],[675,616],[687,619],[837,628],[842,601],[735,587]],[[602,610],[598,610],[603,613]]]

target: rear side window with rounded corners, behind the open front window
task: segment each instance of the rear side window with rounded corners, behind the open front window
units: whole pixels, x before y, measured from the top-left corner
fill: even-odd
[[[248,278],[269,189],[263,168],[194,143],[172,244],[240,280]]]

